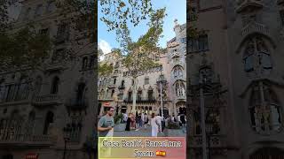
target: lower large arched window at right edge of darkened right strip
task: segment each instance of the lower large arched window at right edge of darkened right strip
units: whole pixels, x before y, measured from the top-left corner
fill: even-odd
[[[280,103],[272,88],[262,82],[252,87],[249,114],[251,125],[257,133],[280,131],[282,123]]]

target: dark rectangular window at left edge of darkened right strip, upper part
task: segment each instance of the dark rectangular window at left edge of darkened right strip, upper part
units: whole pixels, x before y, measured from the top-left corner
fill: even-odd
[[[208,35],[202,34],[197,39],[189,39],[188,49],[189,52],[204,51],[209,49]]]

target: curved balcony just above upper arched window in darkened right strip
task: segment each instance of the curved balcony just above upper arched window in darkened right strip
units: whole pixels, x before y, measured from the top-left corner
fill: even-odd
[[[243,27],[241,30],[242,37],[246,37],[248,34],[252,33],[262,33],[269,35],[269,29],[262,24],[259,24],[255,21],[248,23],[246,27]]]

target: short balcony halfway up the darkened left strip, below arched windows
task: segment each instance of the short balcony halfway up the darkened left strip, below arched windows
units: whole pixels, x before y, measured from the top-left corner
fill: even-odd
[[[59,95],[36,95],[33,99],[35,106],[59,105],[61,103]]]

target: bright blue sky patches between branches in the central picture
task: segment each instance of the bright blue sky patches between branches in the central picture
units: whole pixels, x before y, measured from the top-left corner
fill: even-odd
[[[177,19],[179,24],[184,24],[186,21],[186,1],[185,0],[153,0],[153,6],[155,9],[166,7],[167,16],[164,19],[163,26],[163,37],[159,44],[165,48],[166,43],[170,41],[171,38],[175,37],[173,27],[174,19]],[[102,16],[99,11],[99,18]],[[119,48],[119,43],[115,40],[115,32],[107,32],[106,25],[98,19],[98,42],[99,48],[103,50],[106,54],[110,52],[110,49]],[[147,20],[143,21],[138,25],[138,27],[130,27],[130,36],[132,40],[137,41],[138,37],[146,33]]]

